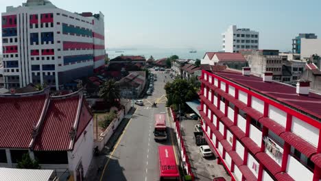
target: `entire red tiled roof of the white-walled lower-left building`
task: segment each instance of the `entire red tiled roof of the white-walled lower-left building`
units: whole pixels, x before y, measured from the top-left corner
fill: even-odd
[[[63,96],[47,91],[2,94],[0,110],[0,148],[71,150],[93,117],[82,91]]]

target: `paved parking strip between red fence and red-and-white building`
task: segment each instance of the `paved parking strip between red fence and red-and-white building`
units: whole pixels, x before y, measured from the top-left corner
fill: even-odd
[[[224,167],[222,165],[217,165],[215,156],[209,158],[203,158],[201,156],[200,149],[195,144],[193,134],[195,131],[194,126],[197,123],[198,121],[190,119],[181,119],[180,122],[182,136],[185,141],[187,154],[189,154],[189,160],[195,175],[195,180],[212,181],[215,177],[224,177],[226,180],[230,180],[230,176],[228,176]]]

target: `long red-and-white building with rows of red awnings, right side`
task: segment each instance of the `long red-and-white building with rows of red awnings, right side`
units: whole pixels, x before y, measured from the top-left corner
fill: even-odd
[[[206,141],[232,180],[321,179],[321,95],[226,69],[200,77]]]

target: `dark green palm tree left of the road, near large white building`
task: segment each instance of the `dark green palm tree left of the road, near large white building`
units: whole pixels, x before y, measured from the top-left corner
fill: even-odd
[[[120,90],[115,80],[108,80],[100,86],[99,97],[104,99],[107,104],[114,105],[119,102]]]

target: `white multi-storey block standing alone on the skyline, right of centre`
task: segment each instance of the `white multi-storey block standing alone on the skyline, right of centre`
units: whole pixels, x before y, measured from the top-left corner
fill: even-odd
[[[259,49],[259,32],[249,28],[237,28],[236,25],[230,25],[222,37],[222,51],[225,52],[239,52],[239,49]]]

